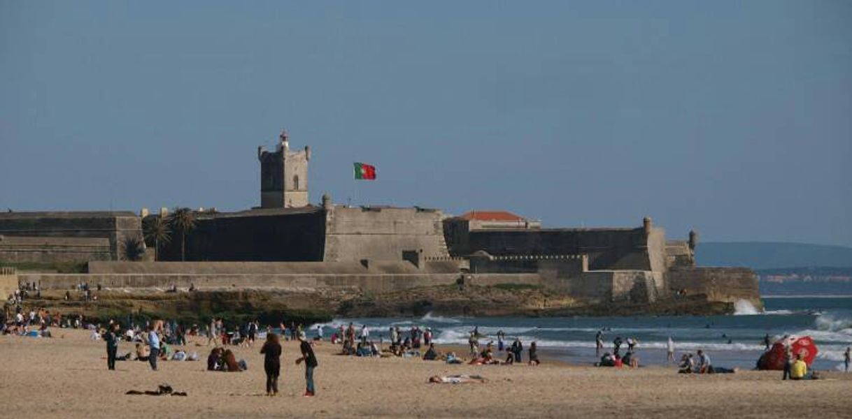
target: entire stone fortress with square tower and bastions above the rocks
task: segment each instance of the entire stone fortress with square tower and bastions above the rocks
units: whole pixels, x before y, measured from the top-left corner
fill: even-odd
[[[751,269],[695,266],[698,235],[669,241],[644,218],[626,228],[545,229],[503,211],[447,217],[422,207],[349,207],[308,200],[311,150],[292,151],[285,132],[274,152],[258,149],[260,207],[195,212],[196,227],[143,261],[124,261],[121,243],[141,237],[132,212],[0,213],[0,263],[87,263],[87,272],[15,272],[43,289],[80,282],[111,288],[195,286],[404,292],[430,286],[526,286],[574,303],[655,304],[689,298],[733,309],[760,306]],[[181,246],[185,245],[185,246]],[[181,247],[185,260],[181,261]]]

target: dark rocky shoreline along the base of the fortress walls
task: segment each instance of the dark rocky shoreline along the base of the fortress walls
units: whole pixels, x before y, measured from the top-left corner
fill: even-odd
[[[398,292],[372,293],[356,288],[330,289],[210,289],[165,292],[161,289],[104,289],[96,301],[70,300],[59,290],[25,300],[27,309],[43,308],[63,316],[83,314],[90,319],[175,319],[205,324],[216,316],[226,321],[259,319],[310,324],[334,317],[409,317],[429,312],[463,316],[619,316],[732,314],[734,304],[709,301],[701,295],[662,299],[655,303],[629,301],[590,303],[538,286],[429,286]],[[758,302],[759,303],[759,302]]]

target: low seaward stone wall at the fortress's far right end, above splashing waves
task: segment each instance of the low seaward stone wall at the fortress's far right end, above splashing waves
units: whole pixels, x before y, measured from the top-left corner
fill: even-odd
[[[710,301],[726,303],[745,299],[762,306],[757,275],[751,269],[672,267],[665,281],[671,291],[685,291],[688,296],[706,295]]]

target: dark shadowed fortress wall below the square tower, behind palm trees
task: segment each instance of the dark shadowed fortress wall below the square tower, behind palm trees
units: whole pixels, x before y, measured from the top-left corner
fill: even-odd
[[[320,261],[325,214],[319,208],[199,217],[187,235],[187,261]],[[160,247],[160,260],[181,260],[181,236]]]

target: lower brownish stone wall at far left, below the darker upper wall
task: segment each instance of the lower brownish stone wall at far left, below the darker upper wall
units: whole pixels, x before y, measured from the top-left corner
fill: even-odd
[[[111,258],[109,239],[0,236],[0,261],[4,262],[87,262]]]

